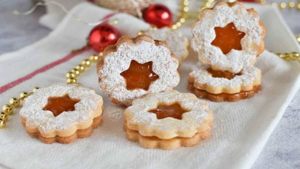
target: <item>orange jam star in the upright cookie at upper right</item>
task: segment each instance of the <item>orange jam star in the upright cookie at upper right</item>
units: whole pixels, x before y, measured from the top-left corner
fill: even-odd
[[[245,36],[244,32],[236,30],[233,23],[229,23],[225,27],[215,27],[216,38],[211,45],[219,47],[223,54],[227,54],[231,49],[242,50],[241,39]]]

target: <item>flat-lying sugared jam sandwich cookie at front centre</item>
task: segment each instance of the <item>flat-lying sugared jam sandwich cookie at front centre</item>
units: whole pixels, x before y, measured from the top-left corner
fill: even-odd
[[[125,109],[124,129],[144,148],[176,149],[210,137],[212,120],[207,102],[170,90],[134,100]]]

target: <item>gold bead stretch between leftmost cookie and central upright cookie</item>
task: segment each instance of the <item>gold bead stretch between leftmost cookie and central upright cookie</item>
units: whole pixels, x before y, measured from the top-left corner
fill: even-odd
[[[79,77],[86,68],[90,67],[91,63],[97,63],[101,57],[103,57],[103,52],[100,52],[98,55],[93,54],[88,59],[82,60],[80,64],[66,73],[67,84],[77,83],[76,78]]]

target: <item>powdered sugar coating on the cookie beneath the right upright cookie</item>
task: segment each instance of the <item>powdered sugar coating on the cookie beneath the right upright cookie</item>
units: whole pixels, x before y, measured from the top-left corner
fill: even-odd
[[[201,63],[198,63],[197,65],[192,67],[192,72],[190,72],[189,74],[189,79],[194,79],[193,83],[195,88],[203,85],[228,89],[239,88],[239,91],[241,91],[241,86],[251,85],[253,87],[253,85],[260,85],[261,71],[254,66],[245,67],[241,71],[241,75],[235,75],[230,80],[227,78],[212,77],[211,74],[207,71],[209,67],[210,66],[202,65]],[[257,82],[254,81],[258,81],[259,83],[257,84]],[[235,93],[237,92],[235,91]]]

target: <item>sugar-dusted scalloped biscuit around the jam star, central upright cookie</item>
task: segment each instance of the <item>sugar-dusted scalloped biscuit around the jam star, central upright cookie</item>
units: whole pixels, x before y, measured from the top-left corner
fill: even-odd
[[[98,69],[99,88],[110,95],[111,99],[130,106],[134,99],[151,92],[170,90],[179,83],[178,60],[165,43],[155,41],[149,35],[140,35],[133,41],[129,36],[121,37],[116,50],[106,53],[103,64]],[[109,47],[108,47],[109,48]],[[127,70],[132,60],[138,63],[152,62],[152,71],[159,76],[148,91],[143,89],[127,90],[126,79],[120,75]],[[98,63],[99,65],[99,63]]]

